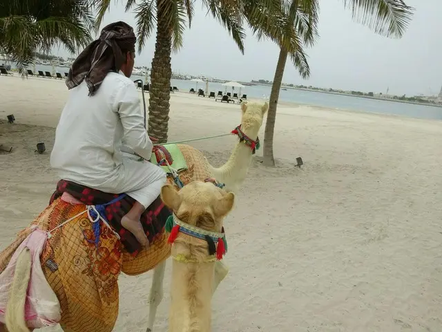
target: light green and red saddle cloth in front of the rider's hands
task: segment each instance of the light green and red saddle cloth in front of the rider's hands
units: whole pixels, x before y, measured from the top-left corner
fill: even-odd
[[[171,173],[169,166],[177,172],[185,171],[186,159],[176,144],[155,145],[152,150],[151,163],[159,165],[164,172]],[[169,165],[167,165],[169,163]]]

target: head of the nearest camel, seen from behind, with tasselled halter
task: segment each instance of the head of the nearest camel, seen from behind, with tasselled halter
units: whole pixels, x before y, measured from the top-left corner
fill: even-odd
[[[226,244],[222,221],[233,208],[233,192],[225,192],[210,182],[193,181],[180,190],[164,185],[161,199],[173,211],[173,223],[169,225],[173,257],[204,261],[216,252],[217,258],[222,259]]]

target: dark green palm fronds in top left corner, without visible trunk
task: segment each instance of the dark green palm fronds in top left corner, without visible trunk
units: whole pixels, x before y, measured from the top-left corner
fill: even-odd
[[[62,44],[71,53],[92,40],[95,20],[83,0],[0,0],[0,53],[17,62],[19,73],[37,51]]]

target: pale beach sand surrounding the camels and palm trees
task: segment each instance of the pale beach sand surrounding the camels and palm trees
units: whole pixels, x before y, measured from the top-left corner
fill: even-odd
[[[0,118],[17,119],[0,124],[0,143],[14,147],[0,154],[1,250],[55,188],[49,153],[67,91],[48,79],[0,77],[0,86]],[[442,331],[442,122],[289,104],[278,112],[278,167],[263,167],[258,151],[226,221],[231,273],[213,299],[213,331]],[[228,133],[239,121],[238,105],[171,96],[170,140]],[[35,154],[39,141],[46,154]],[[220,165],[235,142],[191,145]],[[155,331],[166,331],[170,267]],[[150,285],[151,273],[121,276],[115,331],[145,331]]]

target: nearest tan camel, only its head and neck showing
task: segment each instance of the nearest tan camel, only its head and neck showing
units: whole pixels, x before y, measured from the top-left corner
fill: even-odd
[[[211,183],[193,181],[178,192],[165,185],[161,198],[173,210],[178,230],[169,237],[173,242],[169,332],[210,332],[215,261],[224,252],[222,220],[232,210],[235,195]]]

